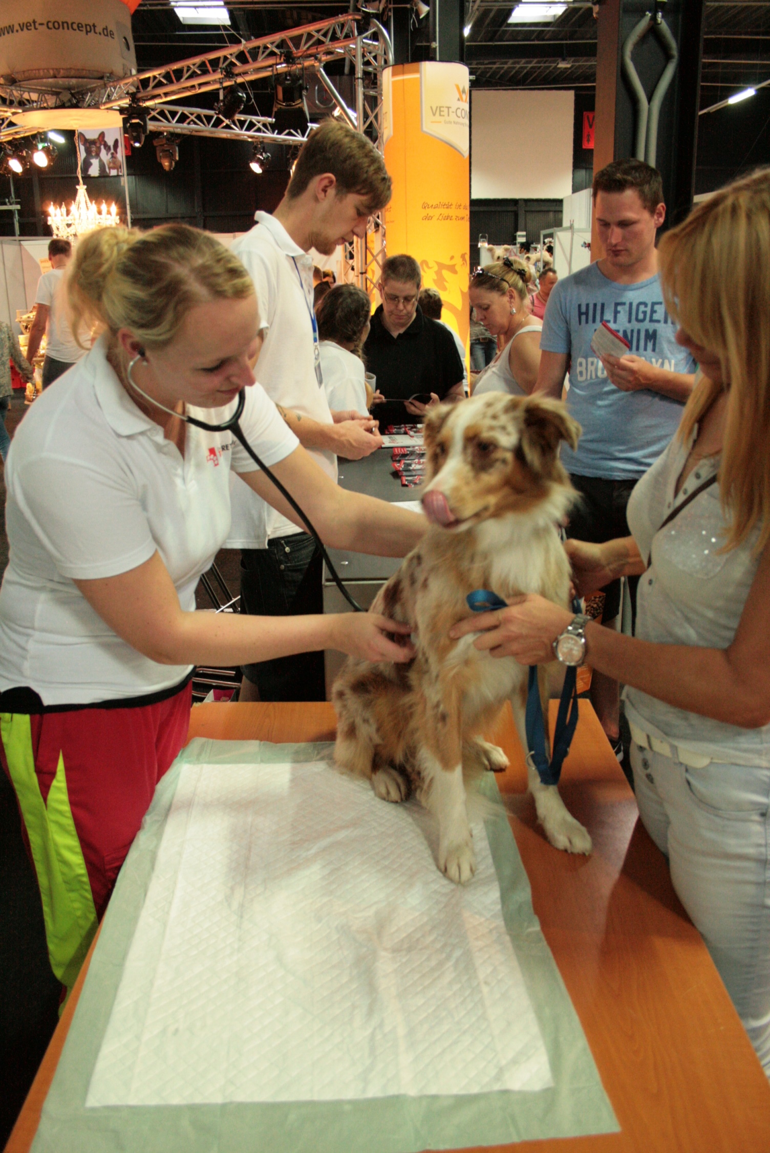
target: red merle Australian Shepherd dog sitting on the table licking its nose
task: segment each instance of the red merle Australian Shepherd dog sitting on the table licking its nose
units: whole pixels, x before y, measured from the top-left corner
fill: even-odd
[[[506,598],[538,593],[567,606],[569,564],[556,526],[575,491],[559,444],[574,449],[580,428],[558,401],[486,393],[439,406],[424,431],[431,526],[371,606],[413,626],[416,656],[406,665],[348,658],[332,698],[334,758],[369,777],[384,800],[414,791],[438,819],[439,868],[462,882],[476,867],[465,782],[508,763],[480,733],[509,700],[527,748],[528,670],[478,651],[477,634],[451,640],[450,628],[468,616],[466,596],[477,588]],[[548,716],[545,666],[538,680]],[[549,841],[590,852],[586,829],[531,764],[529,787]]]

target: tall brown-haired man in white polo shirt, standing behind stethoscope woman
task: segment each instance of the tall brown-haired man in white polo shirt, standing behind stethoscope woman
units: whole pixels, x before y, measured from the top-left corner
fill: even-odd
[[[329,408],[308,251],[315,248],[330,256],[344,240],[363,238],[371,213],[390,198],[391,180],[373,145],[362,134],[327,120],[300,152],[275,212],[257,212],[256,226],[233,244],[254,280],[261,316],[270,324],[257,379],[300,443],[334,480],[338,455],[357,460],[383,442],[371,419]],[[322,612],[322,563],[312,537],[237,478],[232,496],[227,547],[242,549],[241,611]],[[240,699],[323,700],[323,654],[244,665]]]

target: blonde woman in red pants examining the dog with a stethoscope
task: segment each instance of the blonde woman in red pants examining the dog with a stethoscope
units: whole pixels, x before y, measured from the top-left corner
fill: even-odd
[[[403,661],[369,613],[195,612],[229,528],[229,469],[286,515],[222,423],[334,545],[402,556],[422,518],[338,488],[254,384],[250,277],[206,233],[167,225],[81,240],[75,331],[104,333],[20,425],[6,470],[10,563],[0,591],[0,736],[43,898],[48,955],[71,987],[158,779],[184,743],[196,664],[337,648]],[[148,398],[148,399],[145,399]],[[165,412],[169,409],[171,412]]]

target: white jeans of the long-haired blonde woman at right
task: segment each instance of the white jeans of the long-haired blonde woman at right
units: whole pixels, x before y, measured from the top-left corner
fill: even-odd
[[[692,769],[632,743],[644,828],[770,1077],[770,769]]]

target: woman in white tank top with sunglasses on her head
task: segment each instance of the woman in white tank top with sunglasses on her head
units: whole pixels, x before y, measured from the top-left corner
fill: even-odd
[[[523,261],[506,257],[477,269],[470,280],[476,319],[504,341],[495,360],[474,383],[473,394],[508,392],[528,397],[537,382],[542,324],[531,314],[527,285],[533,274]]]

